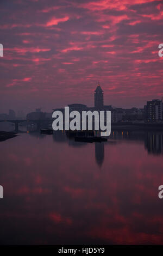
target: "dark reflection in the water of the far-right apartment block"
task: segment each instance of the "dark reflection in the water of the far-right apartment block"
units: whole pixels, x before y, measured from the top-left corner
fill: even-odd
[[[145,149],[148,153],[163,153],[163,133],[148,131],[145,134]]]

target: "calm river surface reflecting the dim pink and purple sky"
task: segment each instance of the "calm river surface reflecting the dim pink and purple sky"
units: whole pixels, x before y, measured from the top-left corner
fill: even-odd
[[[163,244],[162,133],[106,143],[19,133],[0,143],[0,243]]]

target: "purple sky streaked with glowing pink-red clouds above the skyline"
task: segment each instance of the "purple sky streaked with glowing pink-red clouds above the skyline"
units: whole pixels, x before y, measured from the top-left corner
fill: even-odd
[[[1,0],[0,112],[143,107],[163,95],[162,0]]]

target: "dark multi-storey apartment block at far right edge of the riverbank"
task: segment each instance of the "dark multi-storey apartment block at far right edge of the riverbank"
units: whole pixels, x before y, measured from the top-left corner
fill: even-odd
[[[162,100],[147,101],[144,111],[147,121],[162,120]]]

